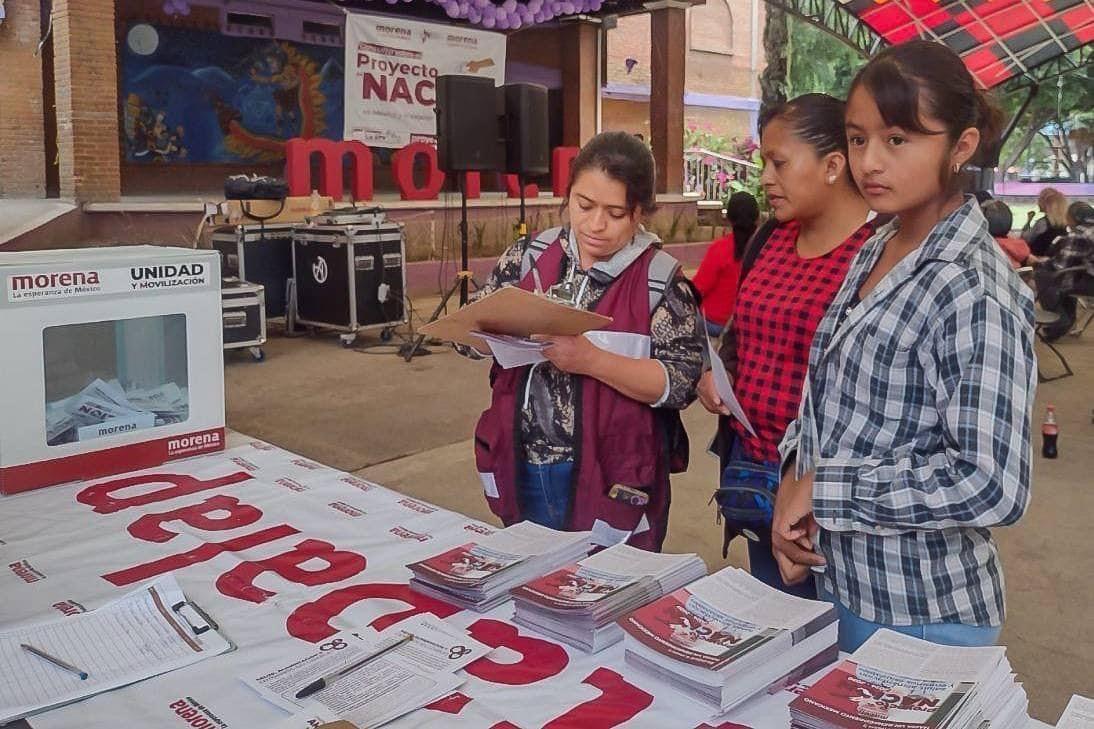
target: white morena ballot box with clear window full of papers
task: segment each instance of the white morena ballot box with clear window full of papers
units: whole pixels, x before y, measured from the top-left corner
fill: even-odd
[[[0,253],[0,493],[224,448],[220,258]]]

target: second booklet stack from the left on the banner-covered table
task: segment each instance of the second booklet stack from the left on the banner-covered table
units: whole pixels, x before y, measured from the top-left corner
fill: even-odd
[[[616,618],[706,574],[698,555],[617,544],[513,590],[513,622],[596,652],[622,640]]]

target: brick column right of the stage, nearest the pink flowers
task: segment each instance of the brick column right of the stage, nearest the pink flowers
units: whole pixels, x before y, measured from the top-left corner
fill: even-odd
[[[687,19],[683,0],[645,3],[650,11],[650,141],[657,192],[684,192],[684,82]]]

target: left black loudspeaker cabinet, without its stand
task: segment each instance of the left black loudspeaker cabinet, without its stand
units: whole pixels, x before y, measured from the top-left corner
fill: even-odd
[[[437,77],[437,157],[445,172],[501,167],[497,92],[478,76]]]

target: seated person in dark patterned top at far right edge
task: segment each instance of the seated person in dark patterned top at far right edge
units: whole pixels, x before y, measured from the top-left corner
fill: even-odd
[[[1068,209],[1071,233],[1052,243],[1049,256],[1034,274],[1037,297],[1046,311],[1060,319],[1041,329],[1049,342],[1062,337],[1075,323],[1075,297],[1094,296],[1094,207],[1075,202]],[[1075,268],[1061,273],[1064,269]]]

